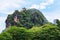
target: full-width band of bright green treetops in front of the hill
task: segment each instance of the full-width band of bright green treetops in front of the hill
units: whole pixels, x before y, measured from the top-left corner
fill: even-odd
[[[60,40],[60,28],[52,23],[31,29],[13,26],[0,34],[0,40]]]

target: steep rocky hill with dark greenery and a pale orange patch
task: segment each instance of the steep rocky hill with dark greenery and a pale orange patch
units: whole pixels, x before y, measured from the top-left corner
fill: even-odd
[[[23,11],[15,10],[6,19],[6,27],[17,26],[31,28],[32,26],[41,26],[48,23],[44,15],[37,9],[28,9]]]

